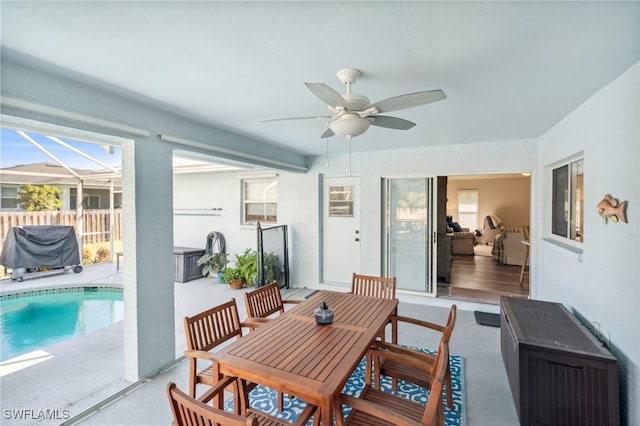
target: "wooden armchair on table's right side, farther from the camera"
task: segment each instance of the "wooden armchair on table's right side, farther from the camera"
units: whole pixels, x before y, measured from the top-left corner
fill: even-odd
[[[456,323],[457,306],[449,309],[449,317],[445,326],[410,317],[398,316],[398,321],[426,327],[442,333],[441,341],[448,345]],[[392,379],[392,389],[395,391],[397,380],[404,380],[424,388],[431,386],[432,378],[436,376],[435,369],[438,355],[431,355],[417,349],[411,349],[394,343],[374,342],[369,355],[374,364],[374,387],[380,389],[380,377],[389,376]],[[451,388],[451,368],[449,358],[446,361],[445,384],[447,391],[447,407],[453,408],[453,392]]]

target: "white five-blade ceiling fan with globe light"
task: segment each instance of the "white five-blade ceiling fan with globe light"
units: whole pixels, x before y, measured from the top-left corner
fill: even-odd
[[[337,76],[342,84],[347,86],[347,93],[343,95],[324,83],[305,83],[314,95],[328,105],[330,115],[275,118],[263,121],[328,119],[330,121],[327,123],[327,130],[322,133],[320,138],[324,139],[333,135],[340,135],[351,140],[352,137],[364,133],[370,125],[396,130],[408,130],[415,126],[415,123],[402,118],[380,114],[425,105],[447,97],[442,90],[428,90],[370,103],[369,98],[366,96],[351,92],[351,86],[360,77],[360,71],[353,68],[345,68],[338,71]]]

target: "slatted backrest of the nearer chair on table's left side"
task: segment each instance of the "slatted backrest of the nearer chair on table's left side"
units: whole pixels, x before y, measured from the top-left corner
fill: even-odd
[[[242,336],[236,300],[184,318],[187,349],[210,351],[219,344]]]

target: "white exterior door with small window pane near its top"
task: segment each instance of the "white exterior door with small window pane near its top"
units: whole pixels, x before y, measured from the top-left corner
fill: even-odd
[[[360,270],[359,178],[324,178],[322,186],[323,282],[351,283]]]

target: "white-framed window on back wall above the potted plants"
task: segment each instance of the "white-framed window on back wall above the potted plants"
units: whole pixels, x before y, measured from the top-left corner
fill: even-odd
[[[242,181],[242,223],[277,223],[278,181],[276,178]]]

